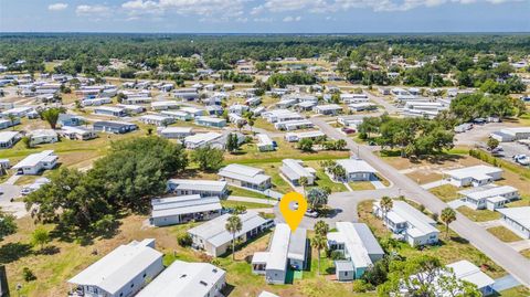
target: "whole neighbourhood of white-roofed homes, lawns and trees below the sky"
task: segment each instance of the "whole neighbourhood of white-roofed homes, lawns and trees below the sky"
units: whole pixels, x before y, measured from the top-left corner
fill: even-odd
[[[530,296],[528,35],[189,39],[0,36],[1,289]]]

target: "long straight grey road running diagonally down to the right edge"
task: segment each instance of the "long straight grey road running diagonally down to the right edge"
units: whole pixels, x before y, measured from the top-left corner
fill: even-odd
[[[315,117],[310,120],[319,126],[326,135],[337,139],[344,139],[351,151],[358,152],[360,158],[393,182],[393,188],[400,189],[399,191],[403,195],[422,203],[431,212],[441,213],[443,209],[447,208],[446,203],[378,158],[368,147],[356,144],[319,118]],[[529,259],[458,212],[457,220],[451,224],[451,229],[513,275],[521,284],[530,287]]]

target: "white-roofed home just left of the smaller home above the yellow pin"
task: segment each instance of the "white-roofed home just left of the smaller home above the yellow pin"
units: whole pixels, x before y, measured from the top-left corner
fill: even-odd
[[[244,165],[232,163],[222,168],[218,173],[229,184],[264,191],[272,187],[271,177],[263,169]]]

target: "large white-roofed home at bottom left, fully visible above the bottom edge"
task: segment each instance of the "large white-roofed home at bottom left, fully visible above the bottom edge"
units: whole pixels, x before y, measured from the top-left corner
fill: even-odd
[[[162,253],[147,246],[149,241],[120,245],[68,280],[71,284],[97,286],[116,294],[149,265],[162,259]]]

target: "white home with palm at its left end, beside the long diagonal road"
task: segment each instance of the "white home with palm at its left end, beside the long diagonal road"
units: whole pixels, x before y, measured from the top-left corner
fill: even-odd
[[[380,200],[373,203],[373,214],[383,220],[386,227],[411,246],[436,244],[439,231],[436,222],[404,201],[394,200],[392,210],[384,212]]]

